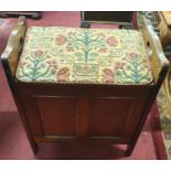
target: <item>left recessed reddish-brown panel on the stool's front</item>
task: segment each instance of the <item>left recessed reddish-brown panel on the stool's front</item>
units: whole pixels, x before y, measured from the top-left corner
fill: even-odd
[[[44,136],[75,136],[77,98],[36,97]]]

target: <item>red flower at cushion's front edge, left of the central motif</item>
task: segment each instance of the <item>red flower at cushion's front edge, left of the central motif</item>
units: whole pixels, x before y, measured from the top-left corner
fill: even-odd
[[[70,82],[70,70],[63,67],[57,73],[57,82]]]

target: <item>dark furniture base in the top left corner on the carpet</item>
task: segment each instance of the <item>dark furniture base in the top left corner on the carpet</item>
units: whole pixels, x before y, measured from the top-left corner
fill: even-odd
[[[19,18],[20,15],[35,19],[35,20],[41,19],[41,12],[39,11],[1,11],[0,12],[0,18]]]

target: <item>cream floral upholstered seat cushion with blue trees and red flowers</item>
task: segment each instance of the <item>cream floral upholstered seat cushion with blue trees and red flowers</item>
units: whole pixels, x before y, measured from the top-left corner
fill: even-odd
[[[149,57],[133,30],[32,26],[15,77],[21,82],[149,84]]]

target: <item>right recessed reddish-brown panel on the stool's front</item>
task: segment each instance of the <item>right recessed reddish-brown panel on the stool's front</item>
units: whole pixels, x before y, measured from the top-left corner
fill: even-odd
[[[89,136],[120,137],[122,136],[127,117],[133,98],[93,98],[90,111]]]

